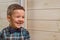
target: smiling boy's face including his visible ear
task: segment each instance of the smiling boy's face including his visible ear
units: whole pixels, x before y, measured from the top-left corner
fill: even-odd
[[[11,16],[7,16],[10,26],[20,28],[24,23],[24,10],[14,10]]]

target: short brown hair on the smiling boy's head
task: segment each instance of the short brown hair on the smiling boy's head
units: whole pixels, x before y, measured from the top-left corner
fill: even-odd
[[[19,5],[19,4],[11,4],[11,5],[7,8],[7,15],[10,15],[10,16],[11,16],[12,12],[13,12],[14,10],[17,10],[17,9],[21,9],[21,10],[24,10],[24,11],[25,11],[25,9],[24,9],[21,5]]]

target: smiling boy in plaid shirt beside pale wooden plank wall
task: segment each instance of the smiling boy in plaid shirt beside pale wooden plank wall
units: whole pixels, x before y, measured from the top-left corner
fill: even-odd
[[[24,23],[25,9],[19,4],[12,4],[7,9],[9,26],[0,33],[0,40],[30,40],[29,32],[21,27]]]

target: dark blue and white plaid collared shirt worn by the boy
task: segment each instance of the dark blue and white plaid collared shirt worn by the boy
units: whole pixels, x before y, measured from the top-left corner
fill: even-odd
[[[18,30],[7,27],[0,33],[0,40],[30,40],[30,35],[23,27]]]

